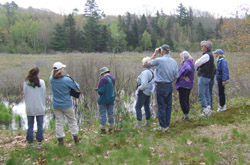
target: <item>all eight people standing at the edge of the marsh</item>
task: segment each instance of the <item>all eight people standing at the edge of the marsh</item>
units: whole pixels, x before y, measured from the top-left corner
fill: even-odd
[[[173,82],[179,92],[179,101],[184,113],[183,121],[189,120],[189,96],[193,88],[194,72],[198,71],[198,93],[203,112],[201,116],[211,114],[212,95],[210,92],[211,83],[215,73],[214,57],[211,52],[212,43],[210,41],[201,42],[203,55],[194,60],[191,55],[184,51],[180,54],[182,63],[178,71],[177,62],[170,56],[170,47],[166,44],[156,48],[151,57],[142,60],[142,72],[137,78],[137,100],[135,105],[137,124],[136,128],[142,127],[142,111],[144,106],[146,122],[144,126],[150,125],[150,97],[156,91],[159,127],[155,130],[167,131],[170,125],[172,112],[172,91]],[[216,79],[219,89],[220,107],[218,112],[226,110],[225,105],[225,84],[229,79],[227,62],[223,55],[223,50],[217,49],[213,52],[217,57]],[[160,54],[160,57],[157,55]],[[155,67],[153,71],[152,68]],[[69,131],[74,142],[79,143],[78,126],[73,110],[71,90],[79,90],[79,84],[69,75],[65,75],[64,65],[61,62],[53,64],[51,76],[49,78],[52,90],[52,105],[55,115],[56,138],[59,145],[64,144],[64,118],[67,118]],[[98,105],[100,114],[101,132],[106,132],[106,123],[109,123],[108,131],[113,130],[114,124],[114,86],[115,78],[110,74],[107,67],[100,69],[100,81],[98,88]],[[37,67],[28,72],[28,76],[23,83],[26,113],[28,118],[28,129],[26,140],[33,147],[34,120],[37,121],[37,148],[40,149],[43,140],[43,120],[45,115],[46,86],[44,80],[40,79],[40,71]]]

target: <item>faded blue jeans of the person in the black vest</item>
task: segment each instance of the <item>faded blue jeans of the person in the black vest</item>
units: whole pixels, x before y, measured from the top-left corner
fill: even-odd
[[[211,104],[211,96],[209,92],[210,82],[211,82],[210,78],[206,78],[202,76],[198,77],[199,101],[201,103],[202,108],[206,108],[207,106]]]

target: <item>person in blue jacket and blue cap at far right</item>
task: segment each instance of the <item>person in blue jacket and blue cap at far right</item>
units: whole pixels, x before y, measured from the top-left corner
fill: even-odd
[[[229,80],[229,69],[227,66],[227,61],[224,52],[222,49],[217,49],[213,52],[215,57],[217,58],[217,70],[216,70],[216,79],[219,90],[219,102],[220,106],[217,112],[222,112],[227,110],[226,108],[226,96],[225,96],[225,85]]]

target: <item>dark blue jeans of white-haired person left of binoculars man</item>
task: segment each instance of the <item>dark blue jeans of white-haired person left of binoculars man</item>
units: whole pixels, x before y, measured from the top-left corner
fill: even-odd
[[[150,96],[145,95],[143,92],[139,92],[135,105],[136,118],[138,121],[142,121],[142,112],[141,112],[142,106],[144,106],[146,120],[150,119],[151,112],[149,108],[149,102],[150,102]]]

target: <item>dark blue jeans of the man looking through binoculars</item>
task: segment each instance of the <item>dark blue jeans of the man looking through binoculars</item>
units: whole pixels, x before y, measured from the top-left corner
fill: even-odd
[[[172,111],[172,83],[157,85],[158,119],[160,126],[167,128],[170,125]]]

